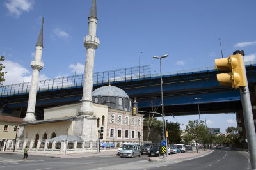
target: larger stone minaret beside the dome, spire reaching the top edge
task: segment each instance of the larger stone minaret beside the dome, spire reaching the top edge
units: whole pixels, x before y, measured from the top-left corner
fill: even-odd
[[[97,6],[96,0],[92,0],[92,7],[90,10],[90,15],[88,17],[88,35],[84,37],[84,47],[86,48],[86,62],[84,68],[84,88],[82,105],[79,109],[80,115],[93,115],[92,110],[92,86],[93,86],[93,66],[94,66],[94,56],[95,49],[99,46],[99,38],[96,36],[97,27]]]

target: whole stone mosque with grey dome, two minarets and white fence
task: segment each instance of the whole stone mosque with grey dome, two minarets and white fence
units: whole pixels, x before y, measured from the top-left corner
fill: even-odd
[[[124,142],[143,142],[143,114],[138,104],[124,90],[111,86],[93,88],[95,49],[99,47],[96,36],[96,0],[92,1],[88,17],[88,35],[84,37],[86,65],[84,69],[83,97],[76,104],[44,109],[44,120],[35,119],[35,104],[43,50],[43,22],[36,43],[35,60],[31,61],[33,75],[29,91],[28,109],[21,125],[18,140],[10,141],[8,148],[17,151],[28,146],[29,151],[49,153],[76,153],[95,150],[100,146],[116,148]],[[44,20],[43,20],[44,21]],[[103,136],[99,136],[99,132]],[[102,138],[99,143],[99,138]],[[13,146],[14,145],[14,146]]]

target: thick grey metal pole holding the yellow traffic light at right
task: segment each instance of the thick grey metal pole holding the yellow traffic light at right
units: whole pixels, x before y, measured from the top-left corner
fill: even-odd
[[[244,56],[244,52],[236,51],[234,54],[242,54]],[[243,59],[244,65],[244,59]],[[252,114],[252,104],[250,99],[250,92],[248,88],[248,81],[246,76],[246,70],[244,66],[244,73],[246,78],[245,87],[240,87],[240,95],[241,95],[241,102],[243,106],[243,115],[244,115],[244,124],[246,129],[246,136],[248,139],[248,147],[250,153],[250,162],[252,169],[256,169],[256,135],[255,135],[255,126],[253,121],[253,114]]]

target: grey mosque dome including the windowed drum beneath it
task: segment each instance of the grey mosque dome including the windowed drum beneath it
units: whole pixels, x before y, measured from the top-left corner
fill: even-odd
[[[102,86],[92,92],[92,101],[113,109],[132,111],[132,100],[124,90],[115,86]]]

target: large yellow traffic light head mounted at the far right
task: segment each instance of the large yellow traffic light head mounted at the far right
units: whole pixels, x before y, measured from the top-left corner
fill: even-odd
[[[230,54],[228,58],[215,59],[215,64],[216,68],[220,71],[230,71],[217,74],[217,80],[221,85],[232,86],[235,89],[247,86],[241,54]]]

